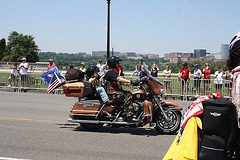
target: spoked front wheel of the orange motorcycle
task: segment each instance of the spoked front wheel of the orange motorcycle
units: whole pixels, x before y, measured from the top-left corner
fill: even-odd
[[[180,111],[165,111],[168,119],[166,119],[162,112],[156,113],[154,122],[156,123],[155,129],[159,133],[170,134],[178,131],[182,114]]]

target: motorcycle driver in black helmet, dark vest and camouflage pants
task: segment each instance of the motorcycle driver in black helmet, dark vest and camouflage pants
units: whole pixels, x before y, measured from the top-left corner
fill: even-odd
[[[126,121],[127,122],[138,122],[139,119],[133,118],[133,105],[132,105],[132,94],[129,91],[123,91],[119,87],[119,83],[124,86],[131,86],[130,80],[120,77],[117,74],[117,69],[119,68],[119,61],[122,61],[118,56],[111,56],[107,59],[107,64],[109,70],[105,75],[105,80],[110,82],[109,91],[118,92],[118,94],[113,96],[113,102],[124,102]]]

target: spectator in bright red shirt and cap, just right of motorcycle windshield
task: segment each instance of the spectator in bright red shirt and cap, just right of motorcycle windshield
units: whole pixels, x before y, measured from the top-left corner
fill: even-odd
[[[187,67],[187,63],[183,63],[183,68],[180,69],[178,74],[178,79],[182,78],[182,95],[184,93],[184,88],[186,89],[185,92],[187,92],[187,83],[188,80],[191,79],[191,70],[189,67]],[[184,87],[185,84],[185,87]]]

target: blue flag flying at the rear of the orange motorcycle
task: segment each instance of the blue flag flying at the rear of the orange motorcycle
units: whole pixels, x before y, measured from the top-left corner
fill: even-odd
[[[50,81],[54,75],[54,72],[56,73],[56,75],[58,76],[59,79],[65,79],[63,74],[61,72],[59,72],[57,67],[53,67],[53,68],[47,70],[47,72],[43,73],[43,75],[41,75],[40,78],[49,85]]]

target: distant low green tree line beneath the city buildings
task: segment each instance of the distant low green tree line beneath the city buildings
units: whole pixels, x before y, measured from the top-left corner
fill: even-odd
[[[66,69],[68,68],[69,64],[73,64],[76,68],[80,68],[80,63],[85,63],[86,67],[90,64],[96,65],[99,60],[102,60],[103,62],[106,61],[106,57],[104,56],[82,56],[79,54],[69,54],[69,53],[56,53],[56,52],[39,52],[38,53],[39,60],[42,62],[47,62],[49,59],[53,59],[54,63],[60,68],[60,69]],[[121,57],[123,61],[120,63],[123,66],[123,69],[125,71],[133,71],[135,70],[136,65],[139,63],[139,60],[135,59],[128,59],[127,57],[123,56]],[[153,63],[156,63],[158,65],[158,68],[160,71],[163,71],[165,69],[165,65],[168,63],[170,64],[170,69],[172,70],[172,73],[178,73],[179,70],[182,68],[183,61],[178,61],[178,63],[169,63],[169,61],[165,61],[163,58],[159,59],[149,59],[148,57],[143,57],[143,61],[149,66],[149,70],[151,69]],[[191,71],[194,70],[194,64],[199,65],[199,69],[202,70],[202,68],[205,66],[205,63],[209,63],[211,73],[214,73],[217,70],[218,66],[223,67],[224,70],[227,70],[227,67],[225,65],[225,60],[222,60],[220,62],[211,62],[211,61],[201,61],[201,60],[194,60],[194,61],[188,61],[188,67],[190,67]]]

